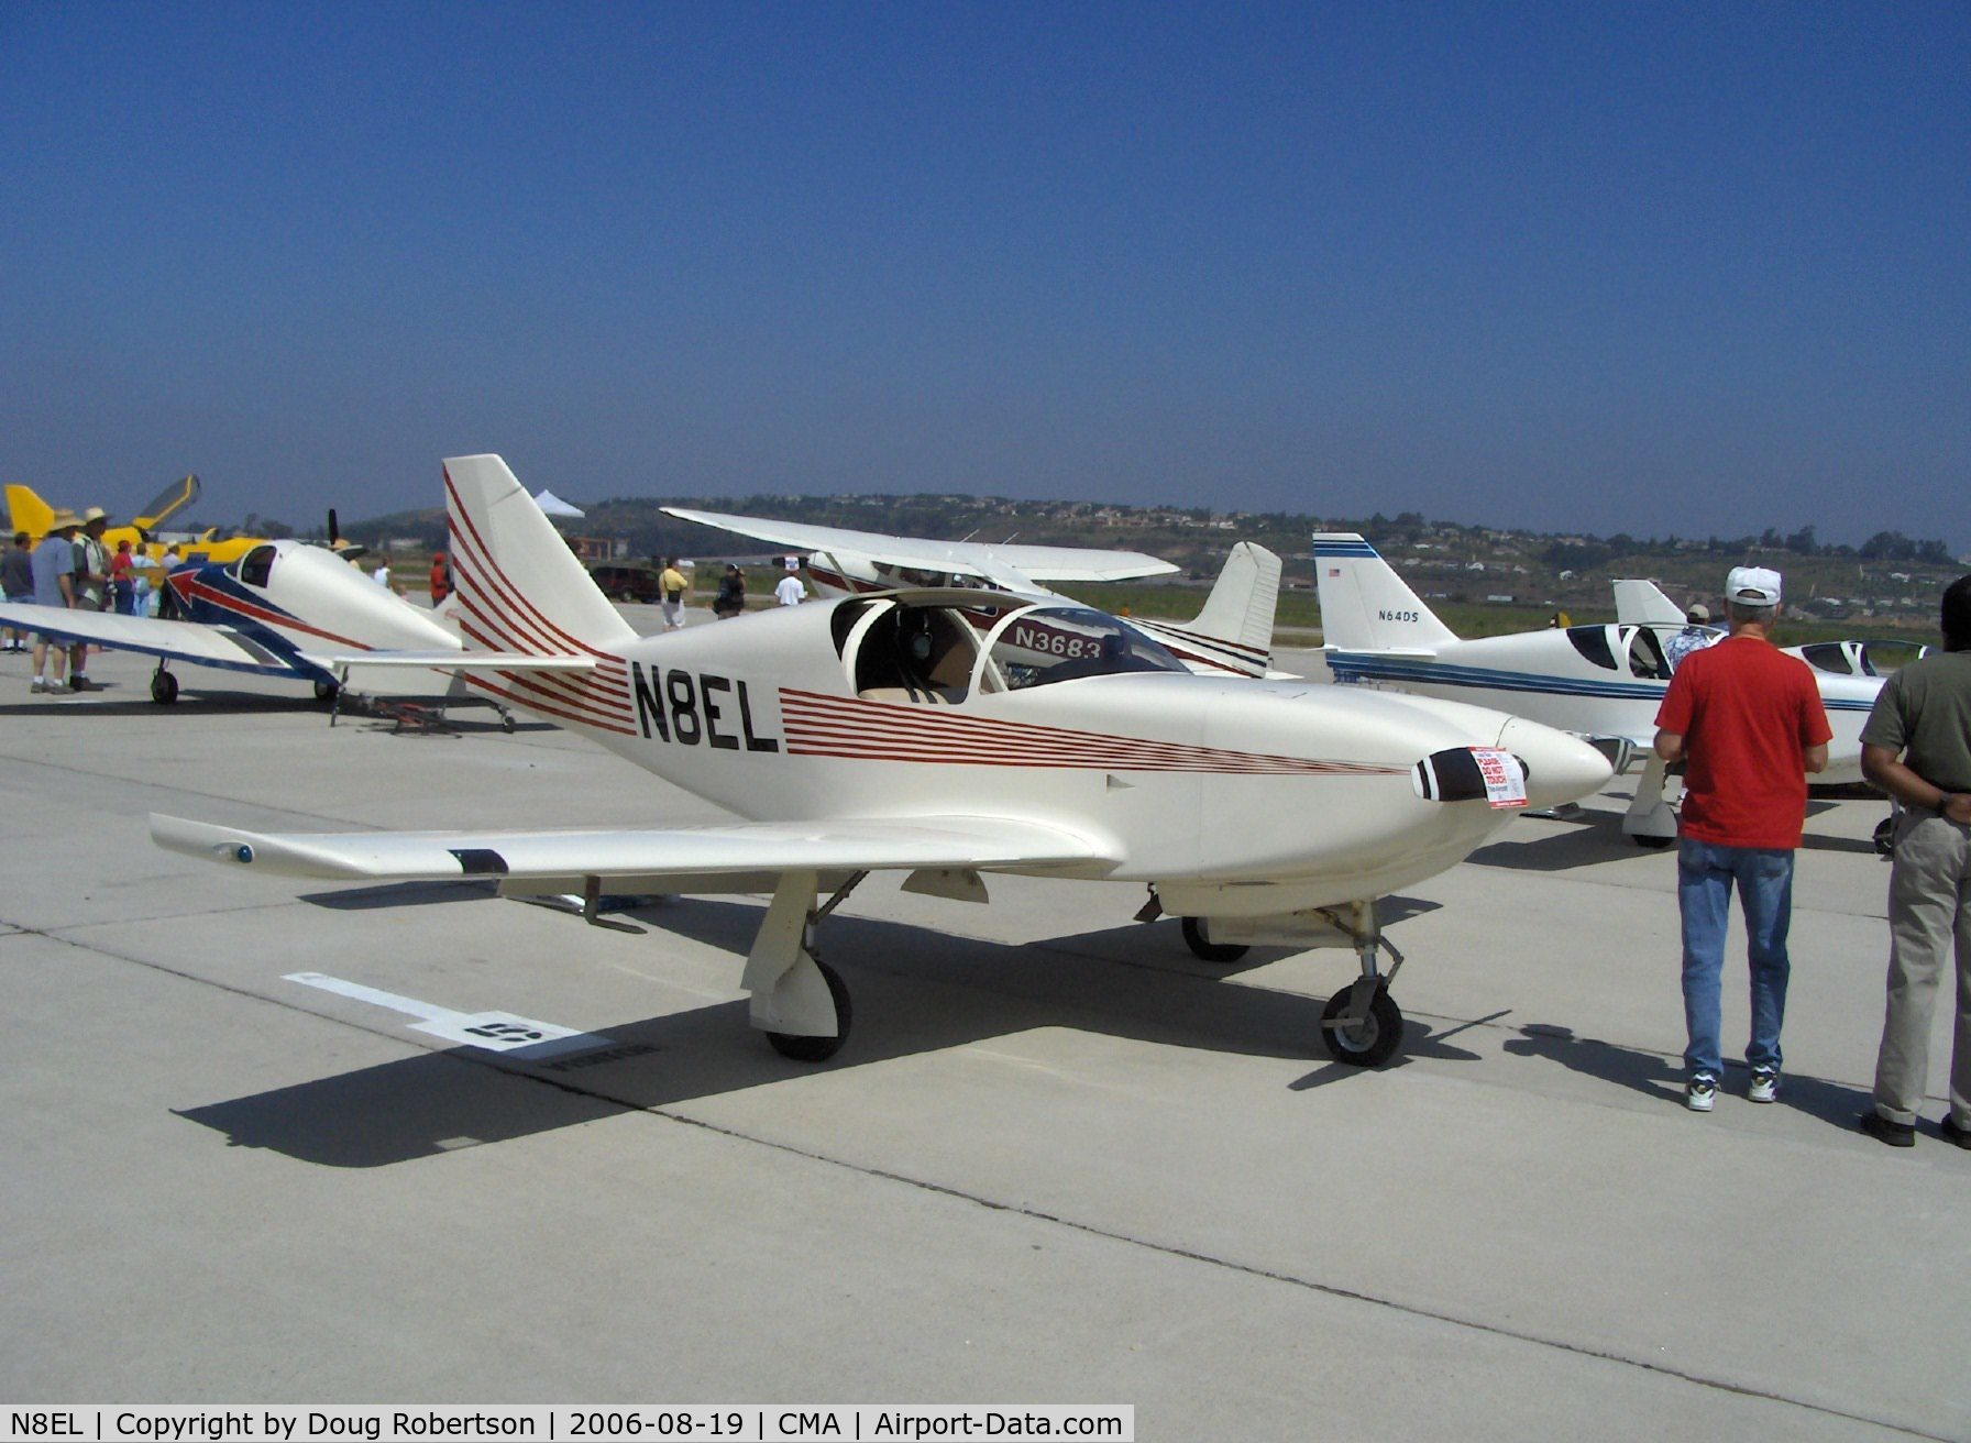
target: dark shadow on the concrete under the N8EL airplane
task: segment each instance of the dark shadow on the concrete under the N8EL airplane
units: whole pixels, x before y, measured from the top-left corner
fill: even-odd
[[[737,984],[763,907],[686,899],[648,915],[660,915],[666,932],[733,952]],[[836,915],[820,942],[855,1003],[848,1045],[822,1065],[779,1057],[747,1023],[745,999],[731,999],[603,1023],[595,1031],[609,1045],[593,1053],[540,1061],[471,1047],[418,1053],[177,1116],[225,1134],[231,1145],[268,1147],[323,1167],[386,1167],[1047,1027],[1248,1057],[1325,1057],[1319,1033],[1326,992],[1228,986],[1232,968],[1194,960],[1175,923],[1003,944]],[[1340,950],[1330,956],[1332,986],[1340,988],[1354,976],[1354,958]],[[388,1033],[390,1023],[376,1031]],[[1407,1021],[1405,1033],[1392,1066],[1407,1057],[1476,1061],[1433,1043],[1419,1021]],[[1356,1072],[1330,1065],[1293,1086]]]

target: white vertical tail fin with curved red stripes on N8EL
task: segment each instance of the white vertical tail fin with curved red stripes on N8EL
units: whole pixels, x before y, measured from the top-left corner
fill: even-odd
[[[501,457],[447,459],[445,513],[467,647],[566,654],[637,639]]]

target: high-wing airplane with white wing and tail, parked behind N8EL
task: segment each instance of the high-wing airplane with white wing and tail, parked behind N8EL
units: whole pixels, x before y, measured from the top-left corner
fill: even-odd
[[[861,595],[899,585],[986,585],[1013,595],[1053,595],[1047,582],[1129,582],[1177,570],[1143,552],[940,542],[686,507],[664,507],[664,513],[808,552],[808,576],[824,595]],[[1279,558],[1263,546],[1238,542],[1194,621],[1135,625],[1194,672],[1265,676],[1273,660],[1277,607]]]

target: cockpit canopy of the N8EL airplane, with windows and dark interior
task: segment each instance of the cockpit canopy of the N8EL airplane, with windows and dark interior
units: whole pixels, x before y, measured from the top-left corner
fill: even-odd
[[[1082,607],[997,607],[869,597],[836,613],[836,645],[855,694],[879,702],[962,704],[974,690],[1189,668],[1125,621]]]

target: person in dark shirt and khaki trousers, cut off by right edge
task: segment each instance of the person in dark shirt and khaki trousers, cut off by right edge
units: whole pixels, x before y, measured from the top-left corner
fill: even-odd
[[[1888,1003],[1863,1132],[1916,1145],[1930,1013],[1957,958],[1945,1141],[1971,1147],[1971,576],[1943,589],[1943,651],[1896,670],[1861,729],[1861,769],[1902,802],[1888,873]]]

